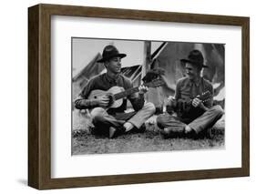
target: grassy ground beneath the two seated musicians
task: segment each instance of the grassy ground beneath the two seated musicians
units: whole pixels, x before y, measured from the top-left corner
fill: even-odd
[[[213,138],[164,139],[155,125],[155,118],[151,117],[146,124],[144,133],[130,133],[109,139],[91,135],[89,132],[90,119],[86,114],[73,111],[72,154],[101,154],[101,153],[130,153],[147,151],[171,151],[188,149],[224,148],[223,119],[213,128]]]

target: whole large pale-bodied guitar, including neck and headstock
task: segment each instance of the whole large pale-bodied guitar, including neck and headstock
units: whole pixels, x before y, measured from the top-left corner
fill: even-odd
[[[160,87],[165,83],[162,79],[155,79],[149,83],[144,84],[145,87]],[[128,95],[138,92],[138,87],[131,87],[125,90],[123,87],[111,87],[108,91],[96,89],[92,90],[88,96],[88,99],[97,99],[98,97],[109,97],[108,108],[117,108],[123,104],[123,98]]]

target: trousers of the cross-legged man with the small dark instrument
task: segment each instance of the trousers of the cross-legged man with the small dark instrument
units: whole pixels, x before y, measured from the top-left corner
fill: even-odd
[[[170,132],[183,132],[186,125],[193,128],[196,133],[211,128],[224,114],[222,107],[219,105],[210,107],[200,117],[188,122],[180,117],[174,117],[169,114],[162,114],[157,117],[157,124],[159,128],[169,128]]]

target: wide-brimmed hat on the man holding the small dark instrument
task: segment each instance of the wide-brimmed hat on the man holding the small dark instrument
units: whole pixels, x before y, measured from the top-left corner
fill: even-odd
[[[183,63],[189,63],[200,67],[208,67],[204,65],[204,59],[199,50],[190,51],[189,56],[187,58],[180,59],[180,61]]]

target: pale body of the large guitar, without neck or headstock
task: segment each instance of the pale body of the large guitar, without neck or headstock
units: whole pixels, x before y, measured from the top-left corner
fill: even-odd
[[[100,90],[100,89],[96,89],[91,91],[91,93],[89,94],[88,99],[97,99],[98,97],[103,97],[103,96],[109,96],[109,97],[114,97],[115,94],[118,94],[120,92],[123,92],[124,88],[123,87],[111,87],[109,88],[107,91],[104,90]],[[113,98],[112,100],[113,102],[110,103],[108,108],[117,108],[120,107],[123,104],[123,98],[120,98],[118,100],[115,100]]]

